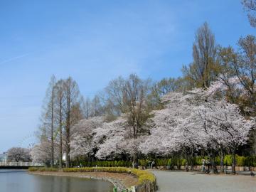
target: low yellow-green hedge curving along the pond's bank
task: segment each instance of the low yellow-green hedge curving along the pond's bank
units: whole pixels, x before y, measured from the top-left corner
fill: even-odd
[[[36,168],[31,167],[29,171],[63,171],[63,172],[109,172],[118,174],[132,174],[139,180],[139,185],[150,182],[156,183],[156,177],[149,171],[142,171],[139,169],[129,169],[125,167],[83,167],[83,168],[66,168],[66,169],[54,169],[54,168]]]

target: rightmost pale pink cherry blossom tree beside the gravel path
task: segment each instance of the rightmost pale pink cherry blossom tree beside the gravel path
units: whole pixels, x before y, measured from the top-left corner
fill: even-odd
[[[230,104],[225,100],[215,102],[207,107],[208,124],[211,137],[220,148],[220,160],[223,171],[223,147],[231,149],[233,154],[232,171],[235,174],[235,152],[238,146],[246,144],[250,129],[255,122],[246,120],[240,113],[238,105]]]

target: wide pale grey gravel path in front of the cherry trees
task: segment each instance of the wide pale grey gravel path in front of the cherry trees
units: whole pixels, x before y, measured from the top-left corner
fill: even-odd
[[[151,171],[159,192],[256,192],[256,176],[206,175],[183,171]]]

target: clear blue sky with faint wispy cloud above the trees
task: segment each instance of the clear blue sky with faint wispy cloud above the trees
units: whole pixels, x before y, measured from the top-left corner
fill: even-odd
[[[33,140],[50,75],[85,97],[119,75],[178,77],[204,21],[222,46],[255,34],[239,0],[0,0],[0,152]]]

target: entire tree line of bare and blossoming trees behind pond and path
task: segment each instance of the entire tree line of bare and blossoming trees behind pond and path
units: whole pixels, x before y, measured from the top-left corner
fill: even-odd
[[[245,9],[255,5],[243,4]],[[66,154],[66,166],[70,159],[145,156],[183,156],[188,162],[208,154],[213,160],[220,156],[223,171],[223,156],[232,154],[235,172],[241,147],[256,153],[255,36],[240,38],[237,50],[222,47],[203,23],[193,62],[182,71],[181,78],[159,82],[135,74],[119,77],[92,100],[82,98],[72,78],[51,78],[33,160],[62,166]]]

